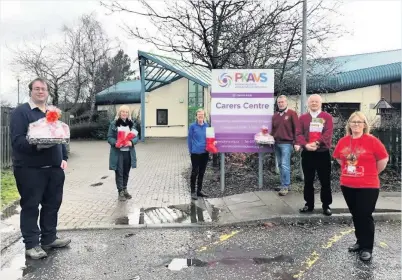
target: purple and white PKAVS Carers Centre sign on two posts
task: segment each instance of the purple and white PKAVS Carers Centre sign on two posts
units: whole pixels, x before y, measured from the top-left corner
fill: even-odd
[[[263,153],[254,135],[262,126],[272,128],[274,114],[273,69],[213,69],[211,125],[221,154],[221,190],[225,189],[224,153],[258,153],[258,183],[263,185]]]

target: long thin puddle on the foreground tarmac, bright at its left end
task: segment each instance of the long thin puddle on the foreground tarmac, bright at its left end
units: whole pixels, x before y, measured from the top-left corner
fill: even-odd
[[[272,258],[223,258],[214,261],[202,261],[199,259],[180,259],[174,258],[166,267],[173,271],[180,271],[183,268],[188,268],[190,266],[195,267],[206,267],[206,266],[216,266],[216,265],[250,265],[250,264],[271,264],[271,263],[294,263],[294,259],[290,256],[279,255]]]

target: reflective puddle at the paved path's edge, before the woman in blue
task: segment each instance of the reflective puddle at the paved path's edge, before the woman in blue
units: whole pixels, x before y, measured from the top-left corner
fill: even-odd
[[[167,207],[133,208],[128,214],[115,218],[116,225],[138,224],[190,224],[218,221],[220,209],[211,207],[211,215],[203,202],[171,205]]]

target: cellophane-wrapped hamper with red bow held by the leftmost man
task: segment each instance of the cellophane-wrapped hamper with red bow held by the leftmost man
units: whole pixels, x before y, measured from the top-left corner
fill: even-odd
[[[34,145],[68,144],[70,142],[70,128],[59,121],[61,111],[55,106],[49,106],[46,117],[30,123],[27,140]]]

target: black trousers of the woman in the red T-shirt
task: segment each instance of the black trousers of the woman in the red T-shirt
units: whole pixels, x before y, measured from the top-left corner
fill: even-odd
[[[377,203],[379,189],[358,189],[341,186],[343,197],[352,214],[357,242],[362,249],[373,251],[374,219],[373,212]]]

